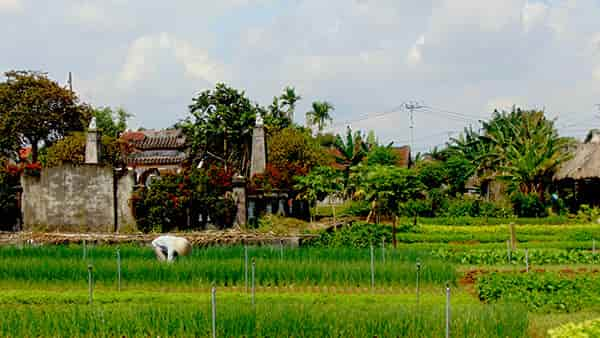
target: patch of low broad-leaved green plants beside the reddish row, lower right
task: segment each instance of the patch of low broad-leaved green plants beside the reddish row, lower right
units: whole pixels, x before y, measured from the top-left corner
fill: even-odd
[[[595,304],[598,277],[557,273],[490,273],[477,279],[479,299],[525,303],[531,310],[573,312]]]

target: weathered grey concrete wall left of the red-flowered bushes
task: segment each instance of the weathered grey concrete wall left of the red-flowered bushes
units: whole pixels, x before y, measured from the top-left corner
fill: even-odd
[[[24,229],[113,232],[114,185],[111,167],[98,165],[44,168],[40,177],[22,176]],[[135,222],[128,206],[133,175],[117,183],[119,225]]]

